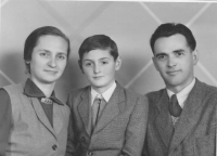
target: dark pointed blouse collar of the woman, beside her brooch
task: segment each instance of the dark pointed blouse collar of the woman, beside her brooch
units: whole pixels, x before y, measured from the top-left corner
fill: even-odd
[[[29,78],[26,80],[24,87],[24,94],[31,98],[46,98],[43,92]],[[60,105],[64,105],[59,99],[55,98],[54,91],[52,92],[50,99]]]

